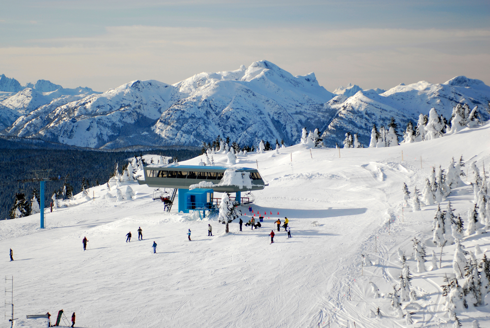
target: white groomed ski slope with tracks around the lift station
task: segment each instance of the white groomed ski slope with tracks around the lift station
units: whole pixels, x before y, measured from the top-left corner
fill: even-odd
[[[154,188],[136,183],[129,184],[131,197],[124,185],[119,192],[101,185],[60,202],[66,207],[46,211],[45,229],[39,228],[39,214],[1,221],[0,277],[14,278],[16,326],[41,327],[25,315],[48,311],[54,323],[64,309],[68,318],[76,313],[75,327],[406,327],[407,319],[396,315],[388,296],[401,273],[400,249],[417,293],[416,301],[402,302],[403,314],[413,313],[410,326],[452,327],[441,285],[445,275],[454,277],[455,245],[441,254],[432,243],[437,204],[419,212],[403,208],[402,185],[421,190],[432,167],[446,169],[452,157],[461,155],[465,169],[476,162],[483,172],[483,164],[488,168],[490,163],[489,140],[487,124],[399,147],[310,152],[296,145],[278,154],[239,155],[235,167],[257,166],[269,181],[254,192],[253,215],[264,216],[264,222],[253,230],[244,225],[239,231],[235,220],[224,233],[216,217],[177,213],[177,202],[167,213],[163,202],[152,201]],[[215,154],[214,160],[226,165],[226,154]],[[469,176],[468,185],[441,203],[445,208],[451,201],[464,220],[473,206]],[[248,205],[241,210],[245,223]],[[277,232],[274,222],[284,217],[292,238],[284,228]],[[213,227],[209,237],[208,224]],[[188,229],[192,241],[187,241]],[[276,232],[273,244],[271,230]],[[129,231],[133,237],[126,243]],[[89,240],[85,252],[84,236]],[[417,273],[414,237],[427,248],[427,269],[433,250],[441,268]],[[472,235],[462,244],[466,251],[478,245],[486,252],[490,237]],[[13,262],[8,261],[10,248]],[[485,305],[457,315],[463,327],[475,319],[480,327],[490,327],[489,312]],[[5,320],[0,327],[10,324]]]

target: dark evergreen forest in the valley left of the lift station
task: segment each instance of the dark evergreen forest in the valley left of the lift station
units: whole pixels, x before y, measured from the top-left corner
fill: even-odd
[[[79,151],[46,149],[0,149],[0,220],[9,218],[9,211],[24,194],[26,200],[33,193],[39,195],[39,182],[22,182],[33,178],[34,170],[50,170],[48,176],[56,180],[45,184],[45,207],[49,206],[53,193],[63,191],[69,185],[73,194],[82,188],[106,183],[114,174],[115,166],[127,165],[127,158],[145,153],[169,156],[179,161],[199,155],[194,149],[167,149],[146,151]]]

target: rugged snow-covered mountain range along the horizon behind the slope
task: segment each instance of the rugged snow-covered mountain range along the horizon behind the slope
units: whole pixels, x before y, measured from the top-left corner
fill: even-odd
[[[0,77],[2,134],[92,148],[200,146],[218,135],[241,146],[276,139],[291,145],[303,127],[323,131],[327,146],[341,144],[346,132],[357,132],[367,145],[373,124],[387,125],[394,117],[404,128],[432,107],[449,119],[457,103],[478,105],[482,119],[490,118],[490,87],[465,76],[388,91],[349,84],[330,93],[314,73],[293,76],[265,60],[173,85],[136,80],[104,93],[45,80],[19,87]]]

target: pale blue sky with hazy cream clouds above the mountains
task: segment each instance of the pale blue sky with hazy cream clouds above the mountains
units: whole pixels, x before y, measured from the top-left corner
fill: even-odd
[[[0,73],[105,91],[262,59],[333,91],[490,84],[490,1],[2,1]]]

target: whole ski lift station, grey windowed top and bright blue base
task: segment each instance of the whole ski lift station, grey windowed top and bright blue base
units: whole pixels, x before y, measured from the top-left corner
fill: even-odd
[[[226,172],[228,171],[228,172]],[[241,185],[222,183],[226,175],[243,177],[251,184]],[[241,193],[245,191],[262,190],[268,184],[262,179],[258,170],[251,168],[233,168],[224,166],[195,166],[195,165],[147,165],[144,167],[145,180],[139,184],[150,187],[178,189],[178,211],[189,213],[189,210],[206,210],[213,208],[213,193],[235,193],[235,199],[242,203]],[[231,179],[233,181],[234,179]],[[195,185],[200,182],[200,186]],[[194,186],[193,186],[194,185]],[[193,189],[190,187],[193,186]]]

